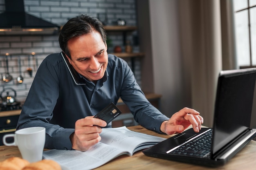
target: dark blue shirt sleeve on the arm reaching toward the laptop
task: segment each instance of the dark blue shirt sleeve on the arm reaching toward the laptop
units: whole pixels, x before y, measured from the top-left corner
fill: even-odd
[[[123,64],[123,73],[121,99],[129,107],[135,121],[149,130],[162,133],[160,126],[163,121],[169,118],[146,99],[127,63]]]

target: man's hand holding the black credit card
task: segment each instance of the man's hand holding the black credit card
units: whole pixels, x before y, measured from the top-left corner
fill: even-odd
[[[75,132],[70,135],[72,148],[75,150],[85,151],[91,146],[97,144],[101,137],[101,127],[107,126],[106,121],[88,116],[83,119],[79,119],[75,124]]]

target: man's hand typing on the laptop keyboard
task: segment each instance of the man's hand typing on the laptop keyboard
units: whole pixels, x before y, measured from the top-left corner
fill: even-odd
[[[184,131],[192,124],[194,131],[199,132],[203,122],[204,119],[199,115],[198,111],[191,108],[183,108],[173,114],[168,121],[163,121],[160,130],[167,135],[172,135]]]

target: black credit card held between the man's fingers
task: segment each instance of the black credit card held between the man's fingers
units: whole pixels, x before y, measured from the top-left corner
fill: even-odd
[[[110,103],[106,108],[101,110],[94,117],[98,119],[102,119],[106,121],[107,124],[109,124],[110,121],[114,120],[120,114],[121,114],[121,111],[117,108],[117,106],[114,103]]]

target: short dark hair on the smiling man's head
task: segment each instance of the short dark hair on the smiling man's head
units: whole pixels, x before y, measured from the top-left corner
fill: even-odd
[[[98,31],[101,34],[101,38],[106,44],[107,35],[104,25],[100,20],[88,15],[78,15],[71,18],[61,29],[61,33],[58,38],[61,50],[71,59],[70,51],[67,47],[67,41],[71,38],[88,34],[93,30]]]

